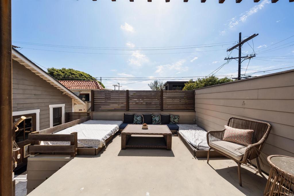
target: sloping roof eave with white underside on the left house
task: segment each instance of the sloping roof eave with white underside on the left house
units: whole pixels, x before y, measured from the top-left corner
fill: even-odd
[[[76,96],[68,88],[66,88],[64,85],[59,83],[55,78],[50,76],[46,71],[41,69],[39,66],[37,66],[35,63],[33,63],[26,56],[24,56],[22,53],[20,53],[19,51],[17,51],[14,48],[12,48],[12,59],[19,62],[20,64],[22,64],[23,66],[25,66],[29,70],[31,70],[37,76],[40,76],[42,79],[44,79],[45,81],[50,83],[52,86],[55,86],[56,88],[58,88],[65,95],[67,95],[70,98],[74,99],[75,103],[85,104],[85,102],[83,100],[81,100],[78,96]]]

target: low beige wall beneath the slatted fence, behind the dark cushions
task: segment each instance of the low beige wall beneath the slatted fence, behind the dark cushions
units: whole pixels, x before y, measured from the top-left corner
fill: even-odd
[[[194,111],[97,111],[92,112],[93,120],[123,120],[123,114],[172,114],[179,115],[179,124],[195,124],[195,112]]]

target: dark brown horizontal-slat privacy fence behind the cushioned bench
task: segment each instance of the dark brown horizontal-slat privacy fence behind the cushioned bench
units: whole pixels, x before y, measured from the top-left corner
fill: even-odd
[[[91,111],[195,110],[194,91],[91,91]]]

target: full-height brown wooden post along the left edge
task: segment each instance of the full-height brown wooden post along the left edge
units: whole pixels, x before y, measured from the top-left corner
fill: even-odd
[[[0,1],[0,195],[12,191],[11,0]]]

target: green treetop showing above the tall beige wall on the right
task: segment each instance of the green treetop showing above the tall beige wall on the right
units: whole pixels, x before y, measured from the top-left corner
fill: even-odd
[[[212,85],[217,85],[217,84],[222,84],[222,83],[227,83],[232,81],[233,81],[232,79],[227,77],[219,79],[216,76],[198,78],[195,82],[193,82],[193,80],[190,80],[188,83],[186,83],[185,87],[183,88],[183,91],[193,90],[196,88],[202,88],[206,86],[212,86]]]

